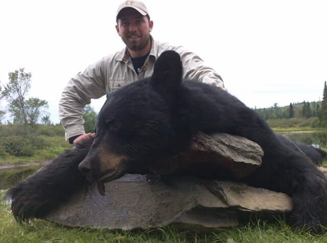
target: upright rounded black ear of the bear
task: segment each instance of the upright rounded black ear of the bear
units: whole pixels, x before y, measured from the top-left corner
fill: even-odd
[[[151,83],[161,95],[171,97],[176,94],[182,75],[183,67],[179,54],[175,51],[165,51],[154,64]]]

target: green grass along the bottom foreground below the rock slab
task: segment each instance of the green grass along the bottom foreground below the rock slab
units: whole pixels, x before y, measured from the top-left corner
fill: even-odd
[[[149,230],[109,231],[68,228],[36,219],[20,225],[10,206],[0,202],[0,242],[327,242],[327,235],[292,232],[285,222],[256,223],[198,233],[165,227]]]

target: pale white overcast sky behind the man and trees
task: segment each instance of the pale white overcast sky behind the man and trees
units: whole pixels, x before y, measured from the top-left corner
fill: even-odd
[[[115,30],[116,0],[0,2],[0,82],[25,68],[29,97],[49,103],[59,123],[66,83],[124,48]],[[145,0],[152,36],[197,53],[249,107],[319,101],[327,80],[325,0]],[[92,100],[100,111],[105,98]],[[0,101],[0,109],[6,104]]]

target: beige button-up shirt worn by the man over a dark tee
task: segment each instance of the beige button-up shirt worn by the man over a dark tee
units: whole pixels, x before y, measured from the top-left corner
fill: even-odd
[[[66,140],[85,134],[83,108],[91,102],[91,99],[98,99],[126,84],[151,76],[156,59],[164,51],[174,50],[180,55],[184,78],[223,87],[220,75],[207,67],[195,53],[181,46],[174,47],[168,43],[160,43],[152,37],[151,41],[150,54],[139,75],[136,74],[125,48],[89,65],[83,72],[69,80],[59,101],[59,118],[65,128]]]

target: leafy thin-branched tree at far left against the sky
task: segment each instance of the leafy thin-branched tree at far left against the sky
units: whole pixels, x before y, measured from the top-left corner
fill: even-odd
[[[38,98],[27,99],[31,88],[31,73],[25,73],[24,68],[9,73],[9,82],[4,86],[2,96],[8,102],[8,111],[14,123],[35,124],[40,115],[45,113],[48,102]]]

